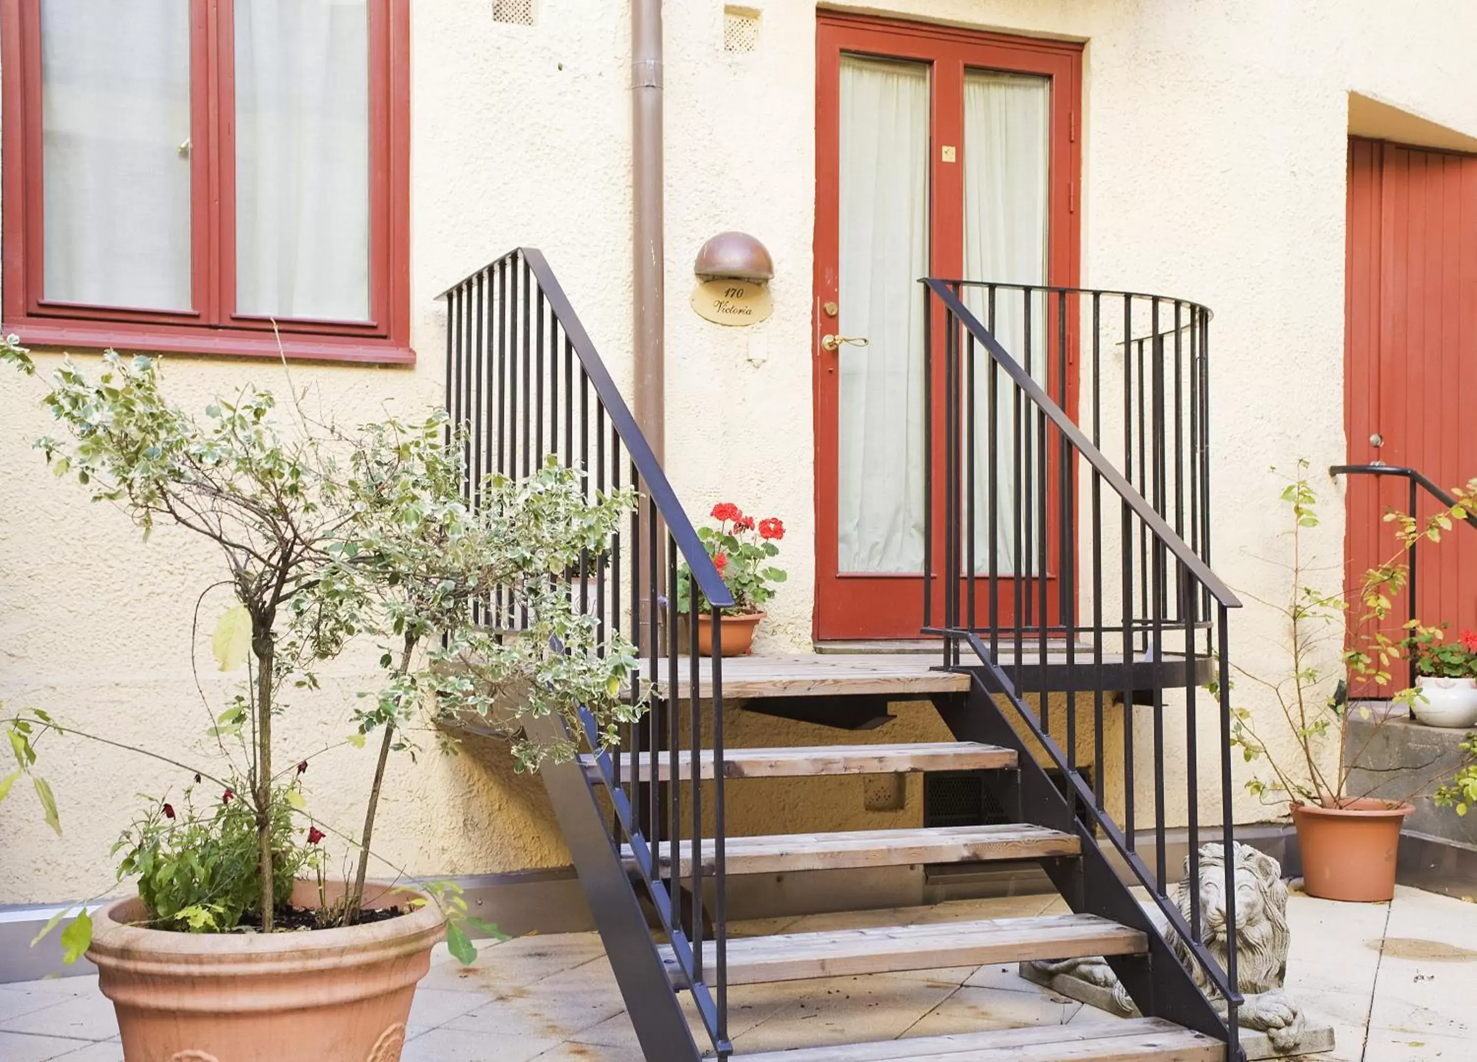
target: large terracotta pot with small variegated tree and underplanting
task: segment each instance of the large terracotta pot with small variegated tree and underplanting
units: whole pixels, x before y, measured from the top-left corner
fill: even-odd
[[[0,356],[35,371],[13,338]],[[66,956],[86,950],[97,965],[130,1062],[399,1058],[431,947],[445,935],[470,962],[468,929],[496,931],[467,916],[450,883],[368,880],[388,756],[442,713],[499,712],[532,768],[573,749],[527,740],[518,718],[572,718],[583,705],[611,733],[640,716],[619,697],[632,647],[616,638],[597,654],[594,620],[555,583],[582,551],[604,548],[632,496],[588,498],[578,473],[548,462],[524,482],[487,477],[474,511],[440,411],[344,431],[297,400],[282,422],[273,396],[248,387],[196,418],[165,399],[157,360],[112,352],[96,383],[65,360],[43,403],[71,436],[37,443],[58,476],[117,504],[145,536],[168,521],[219,548],[222,579],[198,598],[196,622],[225,598],[211,653],[222,671],[244,669],[227,703],[207,703],[217,759],[136,749],[177,768],[180,789],[152,799],[114,848],[118,880],[136,880],[137,895],[96,920],[83,907]],[[523,637],[479,625],[495,594],[526,610]],[[284,755],[273,730],[288,700],[312,696],[318,668],[363,640],[380,643],[381,675],[346,712],[346,733]],[[508,690],[523,691],[511,706]],[[4,724],[21,774],[40,737],[80,733],[43,712]],[[369,739],[363,820],[322,821],[312,761]],[[35,790],[59,829],[50,789],[37,778]],[[347,880],[325,870],[322,845],[335,839],[354,857]]]

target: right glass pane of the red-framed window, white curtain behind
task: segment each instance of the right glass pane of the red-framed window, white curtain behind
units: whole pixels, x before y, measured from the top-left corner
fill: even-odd
[[[366,321],[366,0],[238,0],[235,25],[236,312]]]

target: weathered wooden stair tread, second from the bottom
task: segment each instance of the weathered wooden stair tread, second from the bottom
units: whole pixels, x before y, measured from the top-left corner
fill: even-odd
[[[1137,929],[1096,914],[740,936],[728,941],[728,984],[897,973],[1031,959],[1131,956],[1148,947],[1148,938]],[[666,945],[662,947],[662,962],[674,984],[685,984]]]

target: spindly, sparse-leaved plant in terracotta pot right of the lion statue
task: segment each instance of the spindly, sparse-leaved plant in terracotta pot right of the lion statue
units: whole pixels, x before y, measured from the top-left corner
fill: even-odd
[[[1412,542],[1439,539],[1453,518],[1462,518],[1477,484],[1459,492],[1456,507],[1425,521],[1390,514],[1387,520],[1397,524],[1399,552],[1365,573],[1357,600],[1350,603],[1340,594],[1325,594],[1309,585],[1303,536],[1319,518],[1317,498],[1304,479],[1306,468],[1307,462],[1300,461],[1297,477],[1281,495],[1289,515],[1288,558],[1279,564],[1289,576],[1288,595],[1282,601],[1264,601],[1248,594],[1284,617],[1288,668],[1269,678],[1233,665],[1241,678],[1270,696],[1279,712],[1267,721],[1250,709],[1233,708],[1232,743],[1247,762],[1264,764],[1272,775],[1251,777],[1247,790],[1267,802],[1289,805],[1307,894],[1325,900],[1384,901],[1394,895],[1400,826],[1415,809],[1411,801],[1439,778],[1422,780],[1402,799],[1350,792],[1350,775],[1372,743],[1363,739],[1354,744],[1349,733],[1350,712],[1372,722],[1377,733],[1396,716],[1377,716],[1368,706],[1350,706],[1349,681],[1375,687],[1391,684],[1391,665],[1412,641],[1411,635],[1391,638],[1387,634],[1391,598],[1405,588],[1408,575],[1399,558]],[[1418,696],[1418,690],[1399,690],[1391,702],[1413,705]]]

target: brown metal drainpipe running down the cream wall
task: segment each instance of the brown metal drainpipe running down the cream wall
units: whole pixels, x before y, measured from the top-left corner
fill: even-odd
[[[662,350],[662,0],[631,0],[631,185],[635,306],[635,414],[665,459],[666,374]]]

